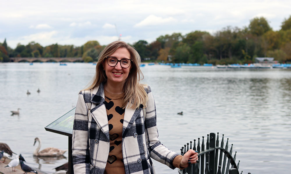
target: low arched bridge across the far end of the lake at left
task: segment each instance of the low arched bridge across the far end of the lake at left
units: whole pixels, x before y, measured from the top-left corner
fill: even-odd
[[[11,62],[80,62],[81,57],[10,57]]]

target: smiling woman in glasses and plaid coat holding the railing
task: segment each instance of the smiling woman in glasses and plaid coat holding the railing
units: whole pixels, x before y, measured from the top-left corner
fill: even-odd
[[[155,173],[151,158],[172,169],[196,163],[194,150],[181,156],[159,142],[155,101],[150,87],[139,84],[139,64],[139,54],[122,41],[100,53],[76,106],[74,173]]]

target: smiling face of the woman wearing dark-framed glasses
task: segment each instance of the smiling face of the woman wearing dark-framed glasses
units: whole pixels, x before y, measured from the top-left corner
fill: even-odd
[[[116,49],[116,51],[113,54],[111,54],[109,57],[114,57],[118,60],[131,59],[129,51],[124,47]],[[110,60],[110,58],[105,58],[103,62],[103,67],[105,69],[105,73],[107,76],[107,83],[123,84],[126,78],[128,77],[129,71],[132,67],[131,63],[128,68],[122,68],[120,62],[118,62],[116,66],[112,67],[108,65],[107,59]]]

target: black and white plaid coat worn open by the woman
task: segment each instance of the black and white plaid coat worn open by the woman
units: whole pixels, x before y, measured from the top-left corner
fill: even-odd
[[[178,155],[158,139],[155,101],[150,87],[146,116],[143,106],[125,109],[122,131],[122,155],[126,174],[153,174],[151,158],[174,169]],[[105,108],[104,86],[79,93],[72,135],[74,173],[103,174],[109,155],[109,127]],[[90,109],[91,108],[91,109]]]

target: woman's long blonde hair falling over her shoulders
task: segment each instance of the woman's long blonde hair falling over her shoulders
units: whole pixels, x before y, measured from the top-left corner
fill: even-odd
[[[103,70],[103,62],[107,56],[113,54],[118,48],[126,48],[130,53],[130,58],[132,59],[130,73],[128,74],[125,83],[123,84],[123,109],[125,109],[127,103],[129,102],[129,108],[137,109],[141,104],[145,106],[148,100],[148,95],[145,92],[144,85],[140,84],[139,81],[143,79],[143,73],[141,72],[139,65],[141,63],[141,57],[139,53],[134,49],[134,47],[128,45],[123,41],[114,41],[107,45],[98,56],[98,61],[96,65],[96,73],[93,77],[89,87],[83,90],[89,90],[101,83],[106,83],[107,76]]]

